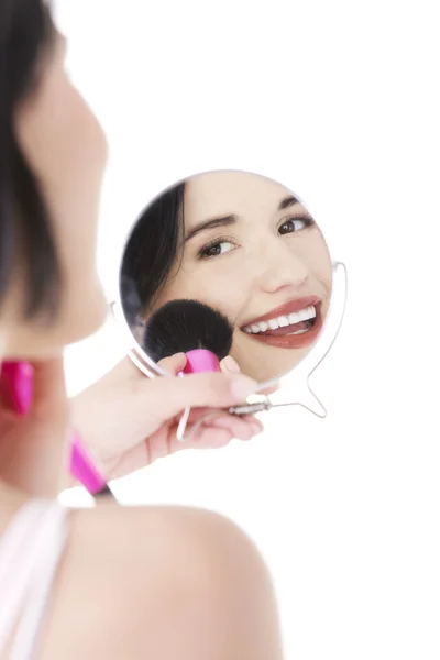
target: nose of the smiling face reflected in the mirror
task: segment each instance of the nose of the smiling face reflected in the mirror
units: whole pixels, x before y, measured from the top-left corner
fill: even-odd
[[[265,244],[260,258],[260,286],[266,293],[287,287],[299,292],[309,277],[307,265],[279,238]]]

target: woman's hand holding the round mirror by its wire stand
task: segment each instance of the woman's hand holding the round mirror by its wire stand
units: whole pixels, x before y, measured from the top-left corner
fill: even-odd
[[[185,364],[183,353],[161,362],[172,374]],[[256,392],[257,384],[237,373],[229,358],[222,370],[227,373],[147,378],[125,358],[73,399],[74,428],[109,480],[182,449],[224,447],[233,438],[250,440],[262,431],[261,421],[252,416],[235,417],[221,408],[242,404]],[[207,413],[218,411],[218,416],[204,422],[188,442],[179,442],[176,431],[186,406],[191,407],[189,426]]]

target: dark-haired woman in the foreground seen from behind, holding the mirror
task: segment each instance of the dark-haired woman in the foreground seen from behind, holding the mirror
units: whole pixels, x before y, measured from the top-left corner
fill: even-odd
[[[25,416],[0,410],[0,658],[279,658],[265,568],[230,522],[112,503],[67,515],[55,499],[72,426],[123,470],[165,453],[186,405],[224,407],[256,386],[226,374],[147,381],[124,362],[72,409],[63,348],[106,310],[95,265],[106,142],[64,56],[45,2],[1,0],[0,355],[33,364],[34,397]],[[95,432],[116,405],[127,424],[101,457]],[[257,430],[239,421],[223,416],[200,441]]]

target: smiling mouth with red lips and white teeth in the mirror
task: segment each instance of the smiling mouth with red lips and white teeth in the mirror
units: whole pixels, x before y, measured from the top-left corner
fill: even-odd
[[[279,349],[310,345],[322,328],[321,300],[316,297],[293,300],[241,328],[250,339]]]

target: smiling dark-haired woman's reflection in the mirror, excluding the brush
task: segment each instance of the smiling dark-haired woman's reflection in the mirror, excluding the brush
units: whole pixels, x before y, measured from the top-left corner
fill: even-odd
[[[157,307],[196,298],[230,318],[231,355],[260,382],[310,350],[332,280],[310,213],[284,186],[245,172],[201,174],[154,200],[130,237],[121,275],[138,338]]]

